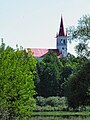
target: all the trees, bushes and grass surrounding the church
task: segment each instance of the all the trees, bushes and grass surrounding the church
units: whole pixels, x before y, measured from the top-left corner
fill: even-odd
[[[73,39],[79,39],[77,57],[68,53],[59,59],[49,51],[36,61],[30,49],[27,53],[18,47],[5,48],[2,41],[0,119],[90,115],[90,16],[83,16],[69,31]]]

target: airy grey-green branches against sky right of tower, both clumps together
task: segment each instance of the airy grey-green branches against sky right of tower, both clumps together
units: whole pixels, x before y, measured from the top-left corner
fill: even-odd
[[[72,39],[79,40],[76,46],[78,55],[90,56],[90,15],[84,15],[78,21],[77,27],[70,27],[68,30],[69,36]]]

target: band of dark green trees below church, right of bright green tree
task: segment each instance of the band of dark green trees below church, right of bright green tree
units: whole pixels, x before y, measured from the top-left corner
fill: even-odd
[[[68,53],[67,57],[58,59],[50,51],[37,62],[37,78],[38,96],[64,96],[73,108],[90,104],[90,60],[84,56]]]

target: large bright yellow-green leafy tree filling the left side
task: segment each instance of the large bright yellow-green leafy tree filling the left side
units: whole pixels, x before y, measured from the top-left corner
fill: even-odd
[[[4,119],[24,119],[31,115],[36,94],[35,67],[36,60],[24,50],[7,47],[0,53],[0,111],[2,116],[8,114]]]

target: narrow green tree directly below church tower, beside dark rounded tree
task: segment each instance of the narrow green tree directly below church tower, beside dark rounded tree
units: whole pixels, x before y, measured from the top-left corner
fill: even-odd
[[[64,86],[70,77],[71,74],[77,71],[78,69],[78,58],[76,58],[74,55],[71,55],[68,53],[67,57],[63,57],[60,59],[63,67],[60,73],[61,76],[61,94],[64,96]]]

